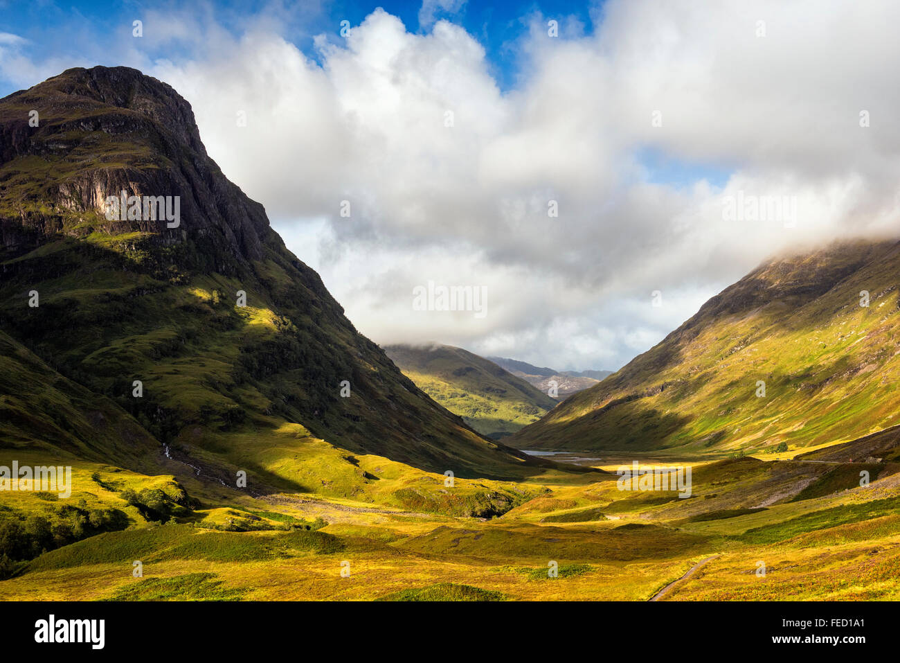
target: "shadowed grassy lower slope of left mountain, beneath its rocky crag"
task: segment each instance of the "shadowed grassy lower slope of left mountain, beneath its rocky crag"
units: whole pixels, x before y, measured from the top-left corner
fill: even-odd
[[[201,238],[156,241],[113,250],[61,238],[7,260],[0,323],[59,374],[112,399],[160,446],[195,429],[209,433],[201,436],[208,446],[197,448],[202,453],[184,447],[188,476],[233,483],[235,461],[219,465],[216,438],[252,437],[278,420],[339,449],[440,475],[518,481],[555,467],[485,440],[446,412],[289,263],[278,263],[286,276],[277,283],[264,265],[205,273],[190,267],[202,258]],[[275,251],[270,259],[286,260]],[[214,286],[218,297],[209,294]],[[246,309],[231,296],[238,287],[247,292]],[[32,288],[41,291],[38,308],[23,304]],[[144,383],[140,397],[132,396],[134,379]],[[351,397],[339,394],[344,380]],[[284,490],[284,478],[260,466],[261,481]]]

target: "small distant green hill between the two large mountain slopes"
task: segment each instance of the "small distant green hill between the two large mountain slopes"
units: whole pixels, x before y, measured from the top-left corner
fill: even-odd
[[[390,345],[384,351],[437,403],[491,438],[536,422],[556,405],[525,380],[462,348]]]

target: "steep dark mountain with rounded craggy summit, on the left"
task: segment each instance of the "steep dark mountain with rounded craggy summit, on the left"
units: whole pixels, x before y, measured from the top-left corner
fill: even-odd
[[[179,223],[108,219],[122,192],[178,196]],[[302,440],[460,477],[535,467],[356,332],[207,156],[189,104],[135,69],[69,69],[0,100],[0,229],[0,328],[179,453],[326,488]]]

